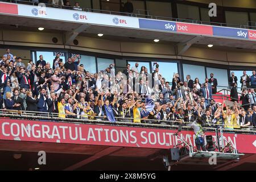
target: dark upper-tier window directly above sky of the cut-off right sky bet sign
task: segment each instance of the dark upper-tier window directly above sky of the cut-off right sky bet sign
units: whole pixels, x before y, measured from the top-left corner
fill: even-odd
[[[226,23],[247,25],[247,22],[248,22],[247,12],[225,11],[225,16],[226,16]],[[238,26],[234,26],[234,27],[238,27]]]

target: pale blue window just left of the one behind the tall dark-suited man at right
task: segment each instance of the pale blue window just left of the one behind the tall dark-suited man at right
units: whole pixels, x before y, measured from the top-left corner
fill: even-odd
[[[195,81],[196,78],[199,78],[200,84],[203,84],[205,80],[205,69],[203,66],[183,64],[184,79],[187,75],[190,75],[193,81]]]

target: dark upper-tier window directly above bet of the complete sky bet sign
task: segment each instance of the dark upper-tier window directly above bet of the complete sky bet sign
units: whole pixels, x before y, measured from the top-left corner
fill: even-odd
[[[200,20],[199,7],[177,4],[178,18]]]

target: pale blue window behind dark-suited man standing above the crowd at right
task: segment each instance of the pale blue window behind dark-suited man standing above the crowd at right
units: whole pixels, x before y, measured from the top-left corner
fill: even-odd
[[[228,71],[226,69],[207,68],[207,77],[210,78],[210,73],[213,73],[213,77],[217,79],[217,90],[224,89],[220,86],[229,86],[228,83]],[[226,88],[225,88],[226,89]]]

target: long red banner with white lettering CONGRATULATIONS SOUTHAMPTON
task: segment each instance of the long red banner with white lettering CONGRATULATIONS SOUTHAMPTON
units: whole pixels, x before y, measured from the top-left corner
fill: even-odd
[[[32,142],[94,144],[103,146],[172,148],[180,143],[176,130],[88,125],[64,122],[0,119],[0,139]],[[213,135],[215,133],[206,133]],[[195,134],[181,131],[179,136],[195,146]],[[256,154],[256,135],[224,133],[239,152]],[[226,142],[225,142],[226,144]]]

